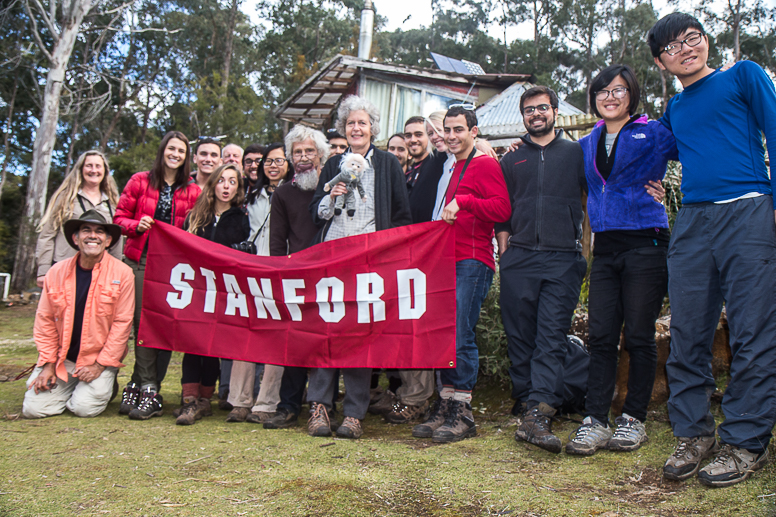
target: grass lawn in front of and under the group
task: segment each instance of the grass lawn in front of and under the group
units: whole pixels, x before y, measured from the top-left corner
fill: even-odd
[[[0,309],[1,375],[35,361],[33,311]],[[0,516],[776,515],[774,465],[729,488],[664,481],[674,446],[664,408],[641,450],[587,459],[516,443],[509,392],[488,385],[474,395],[478,436],[450,445],[374,416],[357,441],[226,424],[215,403],[213,417],[179,427],[180,360],[162,390],[165,415],[147,422],[120,417],[117,400],[93,419],[19,419],[24,382],[0,382]],[[565,442],[575,426],[554,429]]]

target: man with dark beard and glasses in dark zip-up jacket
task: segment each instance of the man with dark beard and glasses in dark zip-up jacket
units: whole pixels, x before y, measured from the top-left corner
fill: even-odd
[[[550,419],[563,396],[563,359],[587,269],[582,256],[582,148],[556,130],[558,97],[546,86],[520,99],[528,134],[501,160],[512,217],[496,224],[501,314],[512,362],[515,439],[558,453]]]

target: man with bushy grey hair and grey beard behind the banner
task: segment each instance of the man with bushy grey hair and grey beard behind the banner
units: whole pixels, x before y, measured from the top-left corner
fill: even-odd
[[[321,166],[329,157],[329,144],[323,133],[301,124],[288,132],[285,144],[286,156],[291,158],[295,174],[291,182],[282,184],[272,195],[271,256],[297,253],[312,244],[318,227],[313,223],[308,206],[318,186]],[[296,425],[306,381],[307,368],[285,367],[280,383],[280,403],[275,414],[264,421],[265,429]]]

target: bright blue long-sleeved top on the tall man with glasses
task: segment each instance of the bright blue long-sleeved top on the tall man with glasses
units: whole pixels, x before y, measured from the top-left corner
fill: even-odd
[[[660,119],[674,133],[682,162],[684,204],[772,195],[760,132],[776,156],[776,90],[751,61],[714,71],[668,103]],[[776,199],[774,199],[776,209]]]

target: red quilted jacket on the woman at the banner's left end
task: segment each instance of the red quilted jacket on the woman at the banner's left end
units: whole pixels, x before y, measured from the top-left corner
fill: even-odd
[[[149,185],[150,175],[149,171],[132,175],[121,193],[116,214],[113,216],[113,222],[121,226],[121,233],[127,236],[124,256],[135,262],[140,262],[143,248],[148,241],[148,234],[154,230],[151,227],[147,232],[137,233],[137,225],[144,215],[154,216],[156,204],[159,202],[159,191]],[[183,221],[186,220],[189,211],[194,208],[194,203],[200,192],[202,190],[193,181],[173,192],[173,225],[183,228]]]

